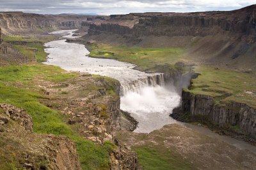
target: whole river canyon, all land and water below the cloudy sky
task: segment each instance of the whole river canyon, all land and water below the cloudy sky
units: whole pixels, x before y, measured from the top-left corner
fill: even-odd
[[[0,139],[22,148],[4,154],[26,169],[147,169],[144,153],[183,169],[253,169],[255,12],[1,13]]]

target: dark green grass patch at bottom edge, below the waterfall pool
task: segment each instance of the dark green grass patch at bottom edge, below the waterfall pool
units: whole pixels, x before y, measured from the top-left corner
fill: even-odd
[[[138,154],[139,164],[145,170],[195,169],[186,160],[167,148],[136,146],[133,150]]]

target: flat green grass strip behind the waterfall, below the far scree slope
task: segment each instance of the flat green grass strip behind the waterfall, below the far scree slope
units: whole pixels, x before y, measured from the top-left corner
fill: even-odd
[[[184,48],[141,48],[138,46],[111,46],[93,44],[89,47],[91,57],[116,59],[149,69],[156,64],[172,64],[182,60]]]

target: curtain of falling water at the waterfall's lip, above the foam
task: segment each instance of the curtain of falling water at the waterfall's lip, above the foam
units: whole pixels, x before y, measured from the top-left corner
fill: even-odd
[[[163,74],[153,74],[138,80],[121,82],[120,96],[124,96],[127,92],[139,92],[143,87],[156,87],[157,85],[164,87]]]

